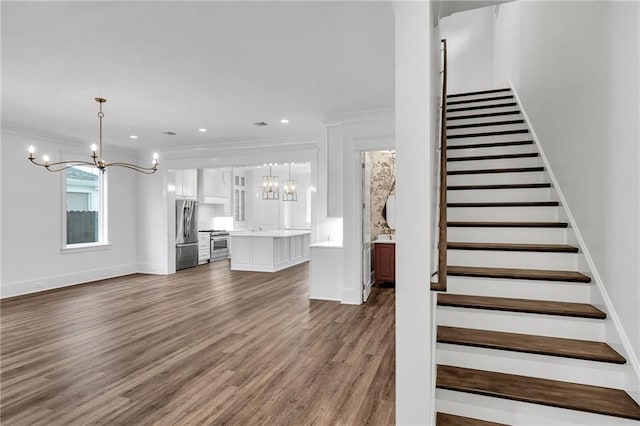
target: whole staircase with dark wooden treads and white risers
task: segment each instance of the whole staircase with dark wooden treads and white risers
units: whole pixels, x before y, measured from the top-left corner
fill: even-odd
[[[447,97],[438,425],[640,425],[635,377],[510,89]]]

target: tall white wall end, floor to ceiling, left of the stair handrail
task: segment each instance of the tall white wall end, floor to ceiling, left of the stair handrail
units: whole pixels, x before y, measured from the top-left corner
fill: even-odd
[[[431,61],[434,31],[429,2],[395,3],[396,36],[396,423],[432,423]],[[346,226],[345,226],[346,227]]]

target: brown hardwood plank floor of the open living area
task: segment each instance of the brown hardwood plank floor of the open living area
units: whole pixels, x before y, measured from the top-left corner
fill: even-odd
[[[308,280],[217,262],[4,300],[0,420],[392,424],[394,290],[340,305]]]

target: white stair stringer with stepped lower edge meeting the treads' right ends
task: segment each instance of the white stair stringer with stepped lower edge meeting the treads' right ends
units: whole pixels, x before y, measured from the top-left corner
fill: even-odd
[[[638,361],[638,354],[633,350],[631,342],[629,341],[629,338],[627,337],[624,328],[622,327],[620,317],[618,316],[613,303],[609,298],[602,278],[598,273],[595,263],[593,262],[593,259],[589,254],[587,245],[582,238],[575,218],[571,213],[569,204],[567,203],[567,200],[562,193],[562,189],[558,184],[558,180],[556,179],[553,173],[553,169],[551,168],[549,161],[547,160],[544,149],[540,144],[540,140],[535,131],[533,123],[531,123],[531,120],[527,115],[526,109],[522,104],[520,96],[515,89],[511,79],[509,79],[509,87],[511,88],[517,106],[520,109],[520,113],[524,117],[525,123],[529,128],[529,135],[534,141],[536,148],[538,149],[538,153],[540,154],[539,158],[545,167],[545,173],[548,175],[553,189],[555,189],[555,195],[558,197],[558,201],[560,202],[561,208],[559,209],[559,213],[561,215],[564,215],[564,217],[559,217],[558,219],[569,222],[569,229],[567,230],[567,244],[576,245],[580,249],[578,252],[578,271],[585,273],[592,278],[592,285],[590,287],[591,304],[607,312],[607,319],[605,320],[606,342],[627,359],[627,365],[629,367],[627,368],[628,373],[625,375],[625,390],[636,402],[640,404],[640,362]]]

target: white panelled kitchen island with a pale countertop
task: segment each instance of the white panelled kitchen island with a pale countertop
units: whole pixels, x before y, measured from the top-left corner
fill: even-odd
[[[232,232],[231,270],[276,272],[309,260],[309,230]]]

